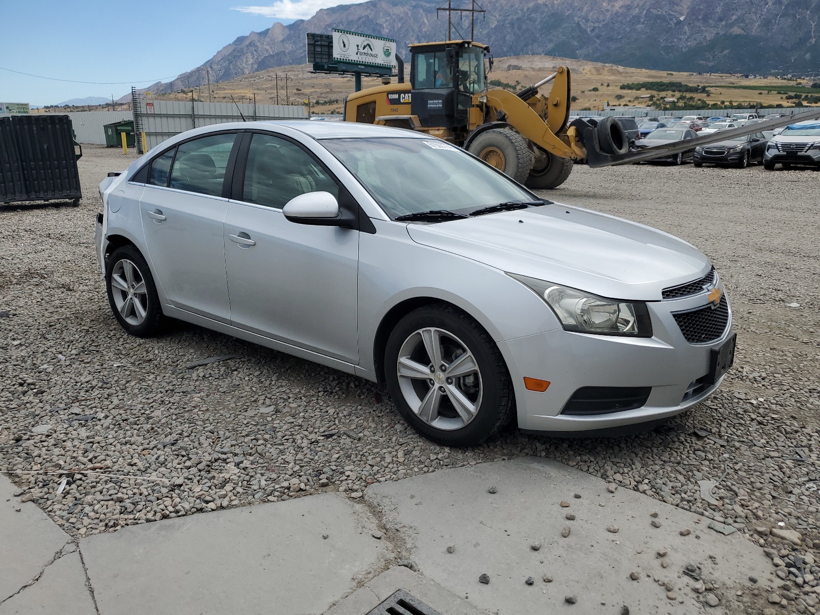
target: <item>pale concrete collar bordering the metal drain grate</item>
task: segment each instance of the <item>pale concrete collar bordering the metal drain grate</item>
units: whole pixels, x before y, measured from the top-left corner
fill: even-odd
[[[403,566],[389,568],[335,604],[325,615],[365,615],[396,590],[405,590],[441,615],[485,615],[467,600]]]

